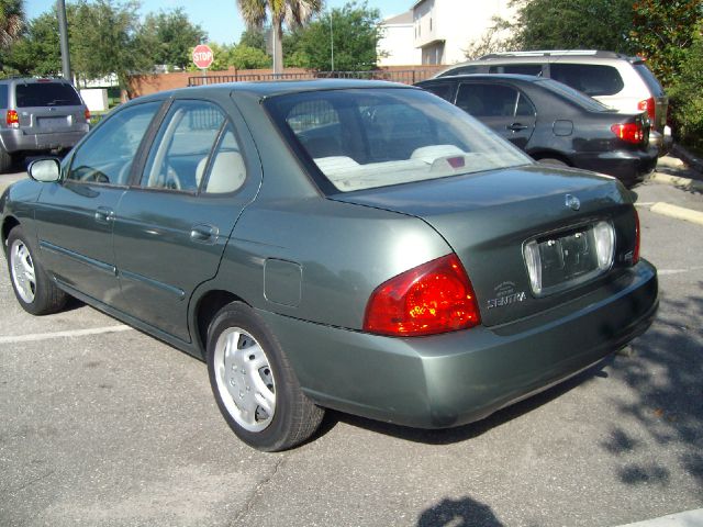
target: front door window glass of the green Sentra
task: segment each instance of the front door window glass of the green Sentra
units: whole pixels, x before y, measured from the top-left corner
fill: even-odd
[[[127,184],[132,161],[159,102],[136,104],[108,117],[74,155],[67,179]]]

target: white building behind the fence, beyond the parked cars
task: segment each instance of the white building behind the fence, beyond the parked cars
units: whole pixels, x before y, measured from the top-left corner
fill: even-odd
[[[379,42],[379,52],[388,56],[379,53],[379,65],[466,60],[465,49],[493,25],[494,16],[514,18],[515,8],[510,3],[511,0],[419,0],[410,11],[382,22],[386,36]]]

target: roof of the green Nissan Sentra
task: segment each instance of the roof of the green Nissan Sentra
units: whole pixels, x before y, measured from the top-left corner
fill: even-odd
[[[261,98],[282,96],[288,93],[302,93],[308,91],[321,90],[348,90],[348,89],[369,89],[369,88],[400,88],[413,89],[412,86],[401,85],[398,82],[388,82],[383,80],[359,80],[359,79],[313,79],[313,80],[279,80],[264,82],[223,82],[210,86],[196,86],[189,88],[180,88],[177,90],[163,91],[150,96],[140,98],[147,99],[165,99],[171,96],[192,96],[196,92],[246,92]]]

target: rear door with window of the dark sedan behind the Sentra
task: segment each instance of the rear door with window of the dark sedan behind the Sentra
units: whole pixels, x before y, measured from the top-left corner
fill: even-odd
[[[522,149],[535,131],[535,108],[513,86],[462,82],[455,104]]]

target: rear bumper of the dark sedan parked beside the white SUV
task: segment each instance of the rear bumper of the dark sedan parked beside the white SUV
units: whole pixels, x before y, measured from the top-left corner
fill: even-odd
[[[641,181],[645,176],[657,168],[659,148],[649,146],[647,152],[613,150],[603,153],[576,154],[573,164],[577,168],[607,173],[632,183]]]

